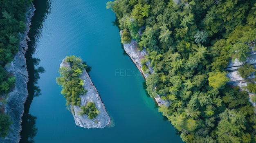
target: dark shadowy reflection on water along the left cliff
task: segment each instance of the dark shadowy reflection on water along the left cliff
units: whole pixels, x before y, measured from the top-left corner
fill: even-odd
[[[49,13],[49,1],[45,1],[45,4],[40,2],[40,6],[37,2],[34,2],[36,7],[36,11],[34,15],[37,17],[38,21],[35,21],[32,18],[32,25],[30,26],[29,37],[31,37],[31,41],[28,42],[28,50],[26,52],[26,59],[27,59],[27,70],[29,73],[29,81],[27,83],[28,89],[28,97],[24,104],[24,113],[22,116],[22,130],[20,132],[20,143],[34,143],[34,136],[36,136],[37,128],[36,128],[36,117],[29,114],[29,108],[33,101],[34,97],[38,97],[41,95],[40,88],[36,86],[38,79],[40,78],[39,73],[44,73],[45,69],[42,66],[38,66],[40,59],[33,58],[32,55],[34,54],[35,48],[35,34],[40,35],[40,29],[43,24],[43,20],[45,19],[45,15]]]

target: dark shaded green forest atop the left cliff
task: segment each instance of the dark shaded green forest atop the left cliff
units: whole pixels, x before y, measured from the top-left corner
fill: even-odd
[[[4,101],[15,84],[15,77],[7,73],[4,66],[13,60],[19,48],[21,33],[25,30],[27,8],[31,0],[0,0],[0,99]],[[1,102],[0,108],[4,108]],[[0,135],[4,137],[9,131],[9,115],[0,112]]]

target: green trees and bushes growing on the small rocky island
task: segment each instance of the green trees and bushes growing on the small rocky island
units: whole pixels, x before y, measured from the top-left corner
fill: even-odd
[[[56,78],[58,85],[61,85],[61,94],[64,95],[67,103],[66,106],[79,106],[81,104],[80,95],[85,95],[87,90],[83,88],[83,79],[79,77],[85,70],[85,63],[82,59],[74,55],[67,56],[65,62],[69,66],[61,66],[58,70],[60,77]],[[87,114],[89,119],[95,118],[99,114],[94,102],[88,102],[86,106],[81,106],[81,115]]]

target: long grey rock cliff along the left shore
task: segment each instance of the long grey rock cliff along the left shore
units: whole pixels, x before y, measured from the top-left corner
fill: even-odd
[[[19,51],[14,56],[11,63],[7,64],[4,68],[9,73],[13,73],[16,78],[15,88],[9,93],[7,103],[5,104],[5,113],[11,116],[13,124],[10,126],[10,131],[4,139],[0,138],[0,143],[18,143],[20,141],[21,131],[21,117],[24,112],[24,103],[27,99],[27,65],[25,53],[27,51],[27,39],[26,35],[29,32],[29,26],[31,25],[31,18],[35,11],[34,5],[31,3],[31,7],[27,9],[26,13],[26,30],[24,33],[20,33]]]

